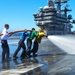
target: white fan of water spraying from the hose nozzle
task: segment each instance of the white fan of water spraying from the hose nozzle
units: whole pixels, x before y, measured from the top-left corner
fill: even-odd
[[[50,35],[48,38],[68,54],[75,54],[75,35]]]

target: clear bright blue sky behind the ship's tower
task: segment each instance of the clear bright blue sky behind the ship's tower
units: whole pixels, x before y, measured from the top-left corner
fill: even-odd
[[[39,29],[34,21],[34,13],[39,13],[39,8],[47,6],[48,0],[0,0],[0,31],[4,24],[10,25],[10,30]],[[74,0],[69,0],[68,8],[72,9],[71,14],[75,19]],[[73,30],[75,27],[73,28]]]

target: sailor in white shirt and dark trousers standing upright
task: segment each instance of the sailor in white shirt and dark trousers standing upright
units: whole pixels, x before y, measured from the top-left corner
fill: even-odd
[[[13,34],[13,32],[8,33],[8,29],[9,29],[9,25],[5,24],[4,29],[2,31],[2,35],[1,35],[2,61],[10,60],[10,58],[9,58],[10,51],[9,51],[9,46],[8,46],[7,40]]]

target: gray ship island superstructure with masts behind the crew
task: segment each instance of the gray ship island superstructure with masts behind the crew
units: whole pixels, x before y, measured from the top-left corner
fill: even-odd
[[[71,11],[67,8],[67,2],[68,0],[48,0],[48,6],[40,7],[39,12],[33,14],[36,25],[43,27],[48,35],[71,33],[75,20],[72,20],[72,15],[67,15]]]

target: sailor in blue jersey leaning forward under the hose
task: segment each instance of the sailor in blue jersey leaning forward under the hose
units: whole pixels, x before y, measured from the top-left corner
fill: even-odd
[[[21,59],[23,59],[23,58],[26,57],[26,46],[25,46],[24,41],[26,40],[26,38],[29,35],[30,35],[30,31],[27,31],[25,29],[25,31],[22,33],[22,35],[20,37],[20,40],[18,42],[18,47],[17,47],[17,49],[15,50],[15,52],[13,54],[13,59],[16,59],[17,58],[17,54],[18,54],[18,52],[20,51],[21,48],[23,49],[22,54],[21,54]]]

